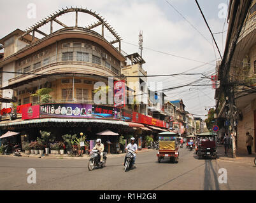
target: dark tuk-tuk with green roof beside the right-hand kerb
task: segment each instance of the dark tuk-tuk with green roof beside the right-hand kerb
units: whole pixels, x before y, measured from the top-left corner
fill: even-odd
[[[197,149],[196,154],[198,159],[203,157],[217,158],[217,134],[201,133],[197,134]]]

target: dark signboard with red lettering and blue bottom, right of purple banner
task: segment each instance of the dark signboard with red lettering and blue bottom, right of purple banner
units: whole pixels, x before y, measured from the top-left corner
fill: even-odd
[[[93,105],[92,117],[97,119],[114,119],[115,108],[103,105]]]

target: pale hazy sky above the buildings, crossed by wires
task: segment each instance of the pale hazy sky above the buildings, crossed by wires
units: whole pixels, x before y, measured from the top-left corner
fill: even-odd
[[[226,31],[228,24],[225,23],[225,16],[220,16],[220,12],[225,13],[225,10],[222,9],[224,8],[223,5],[228,4],[228,1],[198,0],[198,2],[212,32]],[[36,5],[36,18],[27,17],[29,3]],[[185,21],[170,4],[204,37],[190,23]],[[1,0],[0,38],[17,28],[25,30],[42,18],[60,8],[66,8],[66,6],[89,8],[102,15],[111,27],[120,34],[123,39],[122,49],[128,54],[139,52],[138,34],[139,30],[143,30],[143,58],[146,61],[143,69],[148,72],[148,75],[186,72],[203,73],[210,76],[215,73],[216,60],[220,56],[217,49],[213,48],[210,32],[194,0]],[[219,8],[218,6],[222,7]],[[75,25],[75,15],[71,13],[60,16],[59,20],[66,25]],[[85,27],[96,21],[95,18],[84,13],[78,15],[78,26]],[[46,31],[49,27],[50,25],[46,25],[42,30]],[[55,29],[60,28],[60,26],[55,27]],[[218,47],[222,52],[224,51],[226,34],[227,32],[215,34]],[[111,40],[110,33],[106,32],[105,35],[107,40]],[[208,62],[211,63],[205,64]],[[198,68],[193,69],[195,67]],[[173,88],[196,81],[201,77],[203,75],[180,75],[154,77],[149,78],[148,81],[162,81],[164,88]],[[211,81],[206,78],[194,84],[211,84]],[[182,98],[186,106],[185,110],[192,114],[205,115],[207,111],[204,108],[215,105],[215,91],[211,86],[187,86],[165,93],[168,100]]]

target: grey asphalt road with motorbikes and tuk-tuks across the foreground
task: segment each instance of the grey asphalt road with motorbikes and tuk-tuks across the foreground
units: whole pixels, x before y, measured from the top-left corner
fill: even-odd
[[[178,164],[157,161],[157,151],[139,153],[136,169],[124,172],[124,157],[107,159],[106,167],[89,171],[89,160],[0,157],[0,190],[256,190],[256,167],[226,160],[197,159],[180,148]],[[36,183],[27,183],[27,169]],[[219,183],[219,169],[227,183]]]

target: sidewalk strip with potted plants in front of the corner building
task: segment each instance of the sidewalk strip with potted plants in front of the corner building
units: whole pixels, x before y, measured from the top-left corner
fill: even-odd
[[[143,148],[142,150],[138,150],[138,153],[143,152],[150,152],[153,151],[153,149],[147,149]],[[90,159],[90,155],[83,154],[82,157],[71,157],[71,155],[68,154],[48,154],[48,155],[39,155],[39,154],[25,154],[24,152],[20,153],[21,157],[32,157],[32,158],[41,158],[41,159]],[[0,155],[1,157],[16,157],[11,155]],[[124,157],[125,153],[122,154],[107,154],[107,158],[113,158],[113,157]]]

